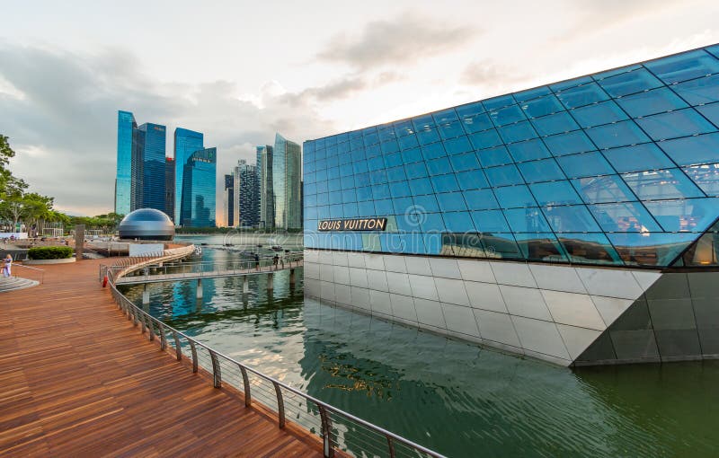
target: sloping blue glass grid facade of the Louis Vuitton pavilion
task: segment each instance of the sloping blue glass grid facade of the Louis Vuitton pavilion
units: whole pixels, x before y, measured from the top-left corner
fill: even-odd
[[[308,141],[306,246],[651,267],[691,246],[713,265],[717,72],[698,49]],[[394,223],[316,230],[357,216]]]

